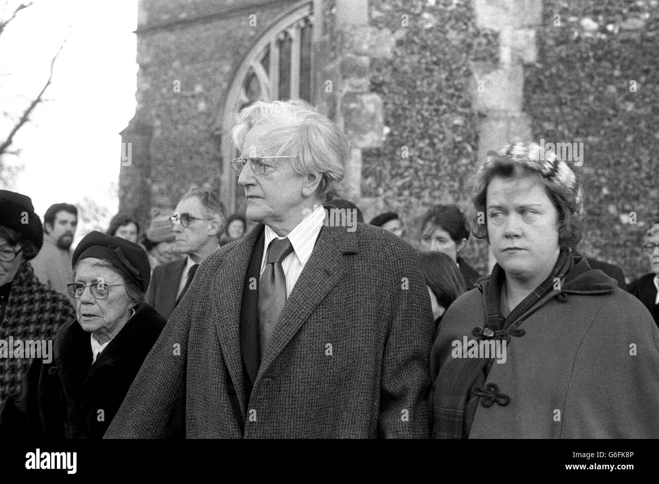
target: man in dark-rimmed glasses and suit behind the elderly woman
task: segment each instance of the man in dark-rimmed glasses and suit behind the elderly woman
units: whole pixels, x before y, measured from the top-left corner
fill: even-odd
[[[185,259],[154,269],[146,300],[169,319],[188,290],[201,261],[219,247],[217,234],[224,229],[224,204],[210,190],[187,192],[169,217],[175,234],[175,249]]]

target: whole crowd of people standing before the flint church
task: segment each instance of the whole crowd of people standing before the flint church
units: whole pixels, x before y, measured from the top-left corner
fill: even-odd
[[[659,437],[659,221],[627,288],[577,252],[581,186],[537,144],[490,151],[471,208],[411,234],[338,198],[345,136],[305,103],[258,101],[232,134],[245,215],[195,188],[71,250],[74,205],[42,225],[0,190],[0,343],[53,342],[0,344],[0,435]]]

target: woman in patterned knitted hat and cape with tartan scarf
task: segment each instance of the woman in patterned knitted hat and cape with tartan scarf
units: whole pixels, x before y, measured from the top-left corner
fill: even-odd
[[[568,165],[537,144],[490,151],[473,203],[497,263],[440,325],[434,437],[659,437],[659,330],[571,254],[582,205]]]

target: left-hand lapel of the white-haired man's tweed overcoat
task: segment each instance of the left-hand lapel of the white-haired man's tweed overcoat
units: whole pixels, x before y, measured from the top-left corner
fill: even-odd
[[[263,230],[263,225],[257,225],[224,254],[212,292],[217,337],[243,414],[246,414],[240,342],[243,284],[252,249]]]

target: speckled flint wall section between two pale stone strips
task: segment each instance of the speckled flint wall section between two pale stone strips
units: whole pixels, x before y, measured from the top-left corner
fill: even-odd
[[[382,148],[362,153],[362,196],[384,200],[418,238],[418,217],[435,203],[467,207],[478,115],[471,62],[498,58],[496,36],[476,28],[471,1],[372,0],[371,24],[395,37],[392,59],[373,59],[371,90],[384,101]],[[483,271],[484,243],[465,258]]]

